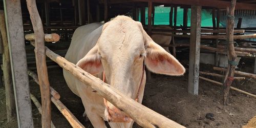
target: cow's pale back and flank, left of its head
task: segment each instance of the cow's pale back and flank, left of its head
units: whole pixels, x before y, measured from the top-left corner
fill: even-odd
[[[65,58],[76,64],[96,45],[101,34],[102,26],[101,23],[93,23],[78,27],[72,36],[71,44]],[[64,69],[63,76],[71,91],[79,96],[75,84],[76,78]]]

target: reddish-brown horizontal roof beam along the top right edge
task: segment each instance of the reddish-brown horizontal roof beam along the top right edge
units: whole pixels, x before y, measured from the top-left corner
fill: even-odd
[[[230,1],[220,1],[220,0],[134,0],[139,2],[148,2],[153,3],[163,3],[163,4],[176,4],[176,5],[200,5],[204,7],[215,7],[215,8],[226,8],[230,7]],[[256,4],[248,3],[237,3],[236,9],[244,10],[256,10]]]

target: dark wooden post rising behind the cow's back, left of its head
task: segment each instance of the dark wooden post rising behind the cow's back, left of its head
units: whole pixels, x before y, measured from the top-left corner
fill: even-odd
[[[79,25],[80,26],[86,24],[85,8],[86,8],[86,5],[84,3],[84,0],[78,0],[78,15],[79,15]]]

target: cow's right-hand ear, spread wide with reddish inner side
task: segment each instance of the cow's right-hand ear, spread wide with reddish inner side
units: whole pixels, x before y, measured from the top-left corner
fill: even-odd
[[[145,32],[141,23],[138,23],[144,37],[144,46],[146,50],[145,63],[148,70],[172,76],[180,76],[185,73],[185,68],[173,56],[166,52],[161,46],[156,44]]]

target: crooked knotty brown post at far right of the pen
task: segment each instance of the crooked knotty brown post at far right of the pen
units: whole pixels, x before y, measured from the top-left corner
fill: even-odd
[[[223,87],[224,87],[224,94],[223,94],[223,104],[228,104],[228,95],[229,95],[229,89],[233,81],[234,76],[234,70],[237,66],[237,55],[234,51],[234,45],[233,45],[233,35],[234,35],[234,7],[236,6],[236,0],[231,1],[231,8],[227,9],[228,14],[228,20],[227,20],[227,57],[228,57],[228,67],[225,75],[225,79],[223,81]]]

